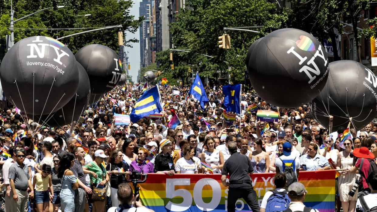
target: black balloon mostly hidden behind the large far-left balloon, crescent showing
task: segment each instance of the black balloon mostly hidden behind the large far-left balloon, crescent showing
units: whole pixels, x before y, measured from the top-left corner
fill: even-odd
[[[84,67],[78,62],[76,62],[76,65],[79,72],[77,93],[66,105],[64,105],[63,108],[55,113],[52,113],[49,116],[35,116],[35,122],[38,122],[41,125],[48,125],[49,127],[59,127],[71,124],[72,120],[80,118],[89,102],[90,82]]]

